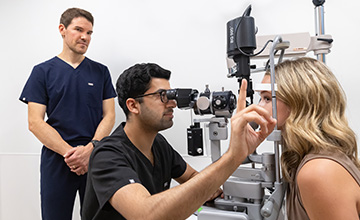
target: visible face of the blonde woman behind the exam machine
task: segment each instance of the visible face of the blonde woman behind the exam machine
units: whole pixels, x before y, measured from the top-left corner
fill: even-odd
[[[270,75],[265,75],[262,82],[264,84],[270,84]],[[278,128],[281,130],[282,126],[285,124],[286,119],[290,115],[290,108],[284,102],[279,99],[276,99],[277,102],[277,122]],[[260,102],[259,106],[265,108],[272,114],[272,98],[271,91],[261,91],[260,92]]]

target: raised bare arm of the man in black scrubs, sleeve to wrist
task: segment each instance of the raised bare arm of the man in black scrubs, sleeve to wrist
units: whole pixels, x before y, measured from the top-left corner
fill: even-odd
[[[126,185],[116,191],[110,204],[126,219],[186,219],[238,167],[235,161],[229,154],[224,154],[222,159],[185,183],[155,195],[139,183]]]

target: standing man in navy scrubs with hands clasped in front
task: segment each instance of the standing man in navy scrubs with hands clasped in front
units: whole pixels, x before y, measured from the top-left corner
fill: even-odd
[[[83,203],[94,145],[115,123],[116,93],[109,70],[84,56],[93,23],[88,11],[66,10],[59,25],[62,52],[33,68],[20,96],[28,104],[29,130],[44,145],[40,166],[44,220],[72,219],[77,191]]]

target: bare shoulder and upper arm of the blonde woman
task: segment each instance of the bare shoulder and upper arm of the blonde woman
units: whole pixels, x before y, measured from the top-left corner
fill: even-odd
[[[336,216],[339,211],[333,209],[340,206],[353,207],[351,212],[357,212],[354,208],[360,202],[359,185],[337,161],[328,158],[309,160],[299,170],[296,181],[310,217],[315,213]]]

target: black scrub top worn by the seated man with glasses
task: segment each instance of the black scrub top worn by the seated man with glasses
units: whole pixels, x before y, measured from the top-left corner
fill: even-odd
[[[140,183],[153,195],[169,189],[171,179],[186,170],[186,162],[161,134],[152,146],[153,166],[126,136],[124,125],[104,138],[90,157],[82,220],[125,219],[109,203],[118,189]]]

